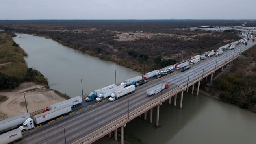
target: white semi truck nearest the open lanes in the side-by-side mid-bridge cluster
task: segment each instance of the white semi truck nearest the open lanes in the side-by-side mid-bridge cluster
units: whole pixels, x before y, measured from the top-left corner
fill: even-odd
[[[109,102],[113,102],[119,98],[121,98],[122,96],[132,93],[135,91],[135,85],[130,85],[124,89],[121,90],[117,90],[115,92],[113,92],[110,96],[110,98],[108,99]]]

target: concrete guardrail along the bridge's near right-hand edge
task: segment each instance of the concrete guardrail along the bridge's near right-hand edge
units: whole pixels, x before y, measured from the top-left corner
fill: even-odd
[[[242,50],[241,52],[243,52],[247,49],[248,48]],[[188,83],[183,83],[182,85],[179,85],[178,87],[170,90],[169,92],[166,92],[165,94],[163,94],[161,96],[161,98],[157,97],[157,98],[151,100],[150,102],[145,103],[144,105],[134,109],[133,111],[129,112],[128,114],[124,114],[120,118],[117,118],[116,120],[107,124],[106,126],[103,126],[100,129],[97,129],[93,133],[90,133],[89,135],[86,135],[85,137],[80,138],[79,140],[76,140],[75,142],[72,142],[72,144],[91,144],[92,142],[95,142],[96,140],[107,135],[111,131],[114,131],[115,129],[117,129],[121,126],[124,126],[127,122],[129,122],[129,121],[133,120],[134,118],[136,118],[137,116],[145,113],[145,111],[148,111],[148,110],[152,109],[153,107],[160,105],[161,102],[163,102],[163,101],[171,98],[175,94],[187,89],[189,86],[193,85],[194,83],[197,83],[198,81],[202,80],[206,76],[215,72],[219,68],[222,68],[227,63],[232,62],[234,59],[239,57],[241,52],[239,52],[239,54],[234,55],[232,58],[226,59],[225,63],[222,63],[220,65],[216,64],[215,68],[211,68],[210,70],[207,70],[206,72],[204,72],[202,74],[202,76],[197,76],[196,78],[190,79],[188,81]]]

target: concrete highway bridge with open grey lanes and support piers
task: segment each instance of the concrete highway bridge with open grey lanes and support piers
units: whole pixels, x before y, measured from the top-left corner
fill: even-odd
[[[124,127],[128,122],[137,116],[144,116],[150,113],[150,122],[153,119],[153,108],[156,109],[156,126],[159,126],[159,109],[162,102],[171,103],[174,96],[174,106],[176,106],[177,95],[180,95],[179,107],[182,108],[183,93],[189,92],[191,87],[193,94],[196,87],[196,95],[199,94],[200,81],[202,79],[212,80],[213,74],[232,63],[239,57],[241,52],[247,50],[255,43],[251,40],[248,45],[237,45],[233,50],[226,50],[218,57],[210,57],[200,61],[185,72],[175,72],[169,76],[148,82],[135,90],[133,94],[124,96],[114,102],[104,102],[93,105],[90,109],[79,111],[70,116],[65,116],[62,120],[53,124],[45,124],[36,130],[30,130],[24,135],[23,140],[17,144],[91,144],[96,140],[114,133],[117,140],[117,129],[121,129],[121,144],[124,143]],[[169,88],[154,96],[147,96],[146,90],[159,83],[168,83]],[[65,127],[65,128],[64,128]],[[64,133],[63,133],[64,129]]]

